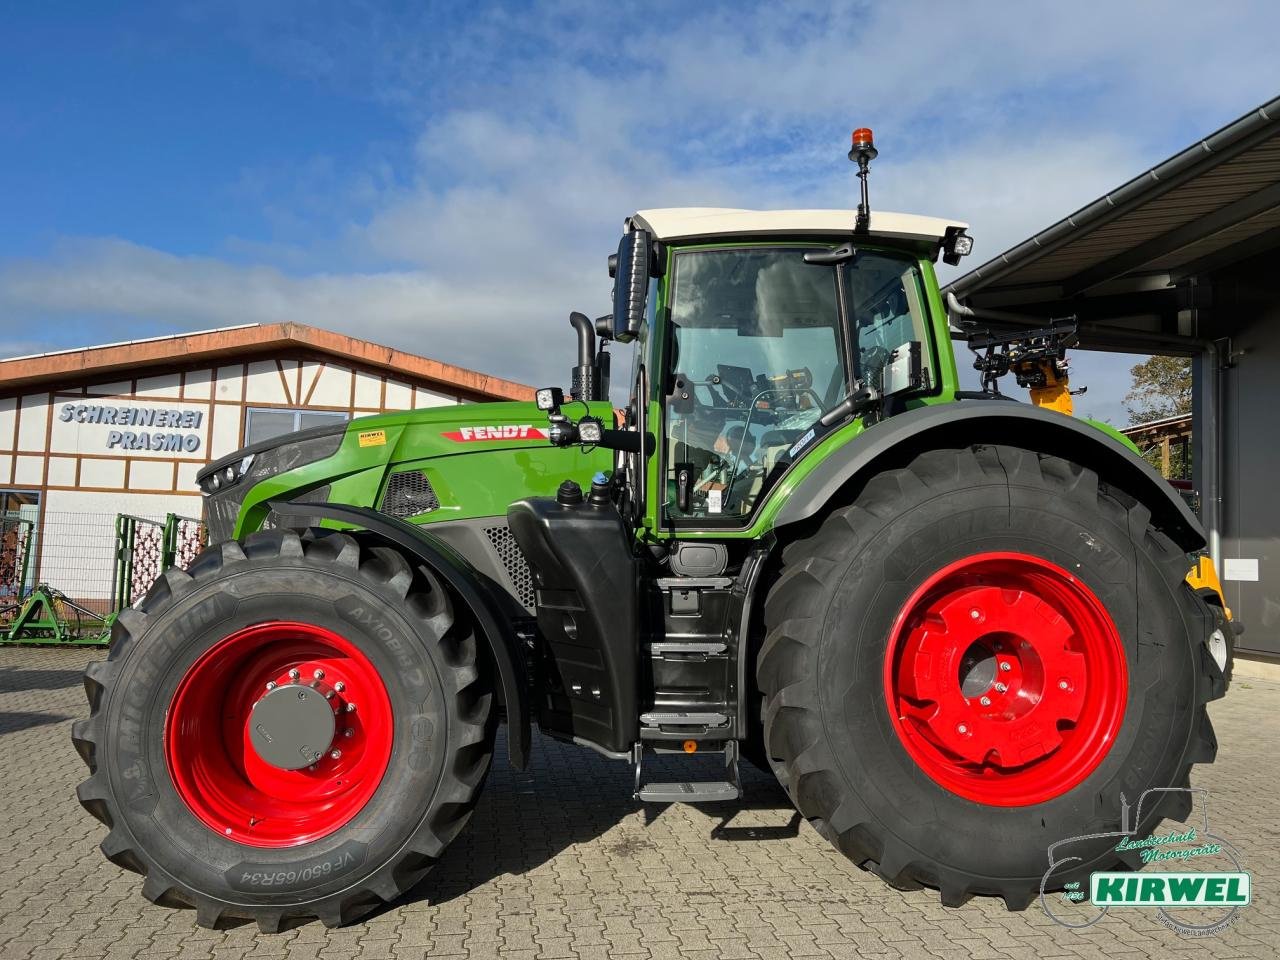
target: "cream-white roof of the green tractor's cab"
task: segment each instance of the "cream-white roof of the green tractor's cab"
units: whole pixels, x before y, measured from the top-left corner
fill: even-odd
[[[709,237],[851,237],[856,210],[736,210],[732,207],[684,206],[641,210],[631,221],[655,239]],[[869,233],[874,237],[934,243],[948,227],[966,228],[963,220],[872,210]]]

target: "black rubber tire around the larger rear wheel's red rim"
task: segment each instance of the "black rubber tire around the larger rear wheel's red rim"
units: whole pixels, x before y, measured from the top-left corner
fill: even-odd
[[[893,886],[936,887],[948,906],[992,895],[1023,909],[1051,844],[1119,829],[1121,792],[1135,804],[1149,787],[1188,786],[1192,764],[1215,756],[1204,704],[1225,684],[1206,646],[1213,617],[1184,582],[1187,556],[1149,520],[1080,466],[970,447],[877,475],[790,544],[765,604],[758,681],[765,749],[800,813]],[[1076,786],[1025,806],[975,803],[927,776],[895,732],[883,672],[913,591],[947,563],[1000,550],[1078,575],[1115,621],[1128,662],[1111,749]],[[1189,809],[1189,794],[1152,795],[1139,836]],[[1078,867],[1051,886],[1135,865],[1115,842],[1074,845]]]

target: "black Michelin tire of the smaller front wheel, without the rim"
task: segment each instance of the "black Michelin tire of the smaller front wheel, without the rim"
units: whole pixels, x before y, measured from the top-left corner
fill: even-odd
[[[262,847],[197,819],[163,741],[191,664],[232,631],[276,620],[340,627],[378,671],[394,719],[385,773],[348,823]],[[493,751],[488,660],[468,620],[429,571],[344,534],[259,532],[166,571],[120,613],[84,687],[90,717],[73,737],[91,776],[77,795],[110,828],[102,852],[146,877],[148,900],[193,908],[205,927],[335,927],[394,900],[466,824]]]

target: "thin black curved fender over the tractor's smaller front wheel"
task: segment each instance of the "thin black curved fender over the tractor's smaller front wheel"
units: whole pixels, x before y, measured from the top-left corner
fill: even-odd
[[[271,500],[270,508],[278,516],[298,517],[306,524],[314,524],[314,518],[320,517],[367,530],[416,557],[453,589],[489,641],[498,667],[498,681],[502,684],[502,699],[507,705],[507,753],[512,767],[525,769],[529,765],[530,714],[529,696],[525,692],[529,685],[524,659],[518,653],[520,640],[498,602],[483,586],[484,581],[476,568],[438,536],[369,507]]]

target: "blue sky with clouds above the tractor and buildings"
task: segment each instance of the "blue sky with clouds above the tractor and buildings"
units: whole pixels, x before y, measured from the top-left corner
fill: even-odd
[[[645,206],[968,219],[986,260],[1280,88],[1280,8],[9,4],[0,355],[300,320],[526,380]],[[1078,355],[1123,421],[1124,357]]]

